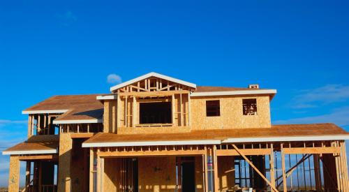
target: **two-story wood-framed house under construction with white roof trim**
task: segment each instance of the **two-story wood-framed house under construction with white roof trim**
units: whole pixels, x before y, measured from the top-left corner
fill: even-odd
[[[148,73],[110,94],[52,96],[22,113],[9,191],[349,191],[335,124],[272,125],[275,89],[200,87]],[[20,161],[27,163],[20,175]]]

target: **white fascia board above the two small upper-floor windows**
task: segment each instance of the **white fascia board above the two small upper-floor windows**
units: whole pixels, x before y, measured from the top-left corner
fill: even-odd
[[[213,91],[213,92],[193,92],[191,97],[195,96],[237,96],[237,95],[257,95],[257,94],[276,94],[276,89],[253,89],[244,91]]]

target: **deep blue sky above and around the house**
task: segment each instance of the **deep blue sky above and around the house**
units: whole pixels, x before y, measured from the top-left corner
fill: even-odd
[[[108,93],[155,71],[198,85],[278,89],[274,124],[349,130],[348,1],[1,1],[0,150],[21,111],[53,95]],[[114,82],[115,84],[115,82]],[[349,148],[349,147],[348,147]],[[8,157],[0,156],[0,186]]]

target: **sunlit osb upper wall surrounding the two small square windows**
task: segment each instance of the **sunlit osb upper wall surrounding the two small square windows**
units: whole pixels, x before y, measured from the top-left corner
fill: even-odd
[[[256,98],[258,115],[243,115],[242,99]],[[206,101],[219,100],[221,115],[206,117]],[[269,96],[209,96],[191,98],[191,128],[267,128],[270,127]]]

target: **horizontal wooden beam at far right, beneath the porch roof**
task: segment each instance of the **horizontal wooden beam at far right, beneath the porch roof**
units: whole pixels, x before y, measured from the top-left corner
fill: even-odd
[[[284,154],[339,154],[340,147],[293,147],[283,148]]]

